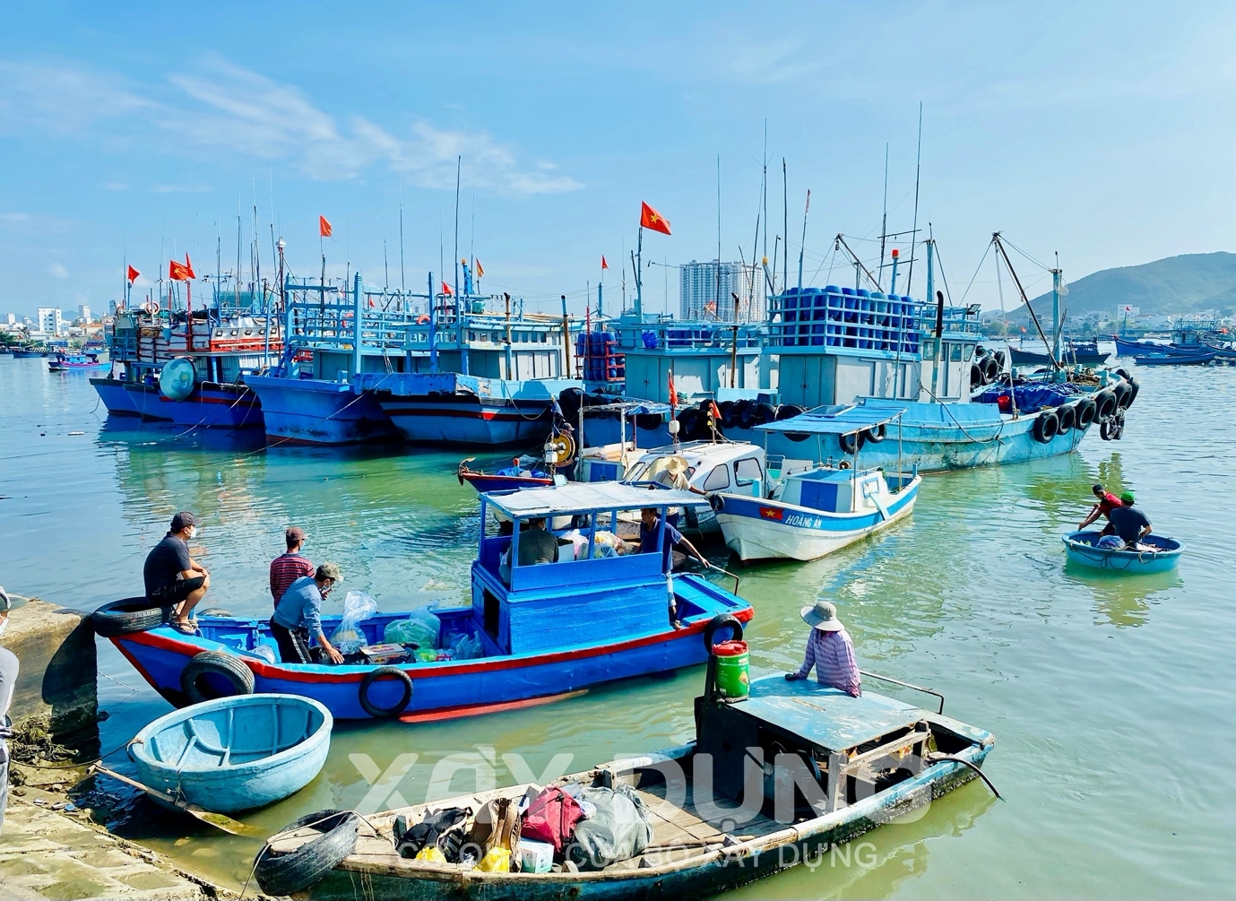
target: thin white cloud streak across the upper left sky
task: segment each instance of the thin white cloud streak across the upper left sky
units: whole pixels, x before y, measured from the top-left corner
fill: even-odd
[[[575,190],[580,182],[520,163],[514,150],[483,130],[440,129],[412,119],[391,130],[362,116],[346,124],[297,88],[209,54],[167,78],[137,85],[68,63],[0,63],[0,131],[42,129],[98,135],[121,145],[152,135],[168,152],[216,158],[220,151],[283,161],[320,180],[356,178],[375,166],[414,185],[452,188],[462,153],[468,187],[509,194]],[[119,126],[119,127],[117,127]],[[109,190],[120,190],[108,183]],[[163,190],[167,185],[156,187]],[[179,188],[183,189],[183,188]]]

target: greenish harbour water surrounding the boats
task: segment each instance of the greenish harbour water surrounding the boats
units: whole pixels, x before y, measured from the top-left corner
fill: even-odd
[[[739,571],[756,611],[755,672],[795,667],[798,608],[836,601],[864,669],[931,686],[947,713],[995,733],[984,769],[1005,801],[971,782],[849,854],[734,897],[1236,896],[1236,368],[1137,376],[1120,442],[1093,430],[1067,457],[931,476],[913,517],[875,540]],[[108,419],[96,402],[82,373],[0,356],[0,582],[10,591],[85,609],[140,593],[146,552],[176,510],[190,509],[203,517],[197,544],[214,583],[205,607],[267,613],[267,564],[293,523],[314,561],[341,565],[336,609],[349,588],[383,609],[466,599],[478,504],[455,478],[464,454],[266,450],[258,436]],[[1156,531],[1187,543],[1179,572],[1065,569],[1060,535],[1084,517],[1096,481],[1136,491]],[[727,560],[719,546],[711,555]],[[109,641],[99,640],[99,665],[103,747],[121,749],[109,763],[125,769],[125,742],[168,704]],[[324,807],[470,791],[477,771],[518,781],[677,744],[692,737],[702,679],[700,667],[440,724],[340,723],[321,776],[243,818],[268,834]],[[119,832],[245,882],[260,842],[106,787]]]

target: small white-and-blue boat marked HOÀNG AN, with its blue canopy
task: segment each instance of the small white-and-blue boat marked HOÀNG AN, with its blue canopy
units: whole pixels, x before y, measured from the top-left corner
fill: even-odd
[[[901,413],[852,408],[840,414],[815,410],[792,420],[758,426],[765,434],[795,428],[815,435],[847,438],[853,463],[816,465],[792,472],[769,486],[768,496],[716,494],[712,508],[726,545],[748,560],[817,560],[860,541],[908,517],[918,497],[917,473],[885,473],[859,468],[858,435],[887,435]],[[896,438],[894,435],[894,438]]]

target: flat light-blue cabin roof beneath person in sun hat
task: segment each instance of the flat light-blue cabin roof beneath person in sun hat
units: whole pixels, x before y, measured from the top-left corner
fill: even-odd
[[[831,751],[843,751],[920,722],[925,711],[883,695],[850,697],[815,680],[780,675],[751,681],[743,713]]]

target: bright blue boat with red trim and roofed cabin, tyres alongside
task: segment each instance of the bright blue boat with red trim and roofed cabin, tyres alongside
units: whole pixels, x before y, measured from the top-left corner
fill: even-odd
[[[320,701],[336,719],[419,722],[543,703],[602,682],[701,664],[700,637],[714,617],[750,619],[750,604],[707,578],[667,576],[664,530],[654,552],[614,552],[619,514],[638,515],[645,507],[664,514],[697,502],[688,492],[613,482],[482,494],[472,602],[431,608],[433,648],[391,648],[391,627],[408,613],[379,613],[356,624],[363,638],[360,656],[339,666],[278,661],[269,623],[246,617],[203,614],[200,635],[158,627],[111,640],[178,704],[201,687],[187,682],[185,672],[203,667],[224,680],[216,691],[302,695]],[[520,535],[529,520],[541,518],[570,527],[556,529],[560,562],[520,566]],[[667,611],[670,592],[676,622]],[[323,617],[323,623],[331,634],[340,618]],[[204,653],[216,656],[201,659]],[[195,660],[200,666],[189,669]]]

